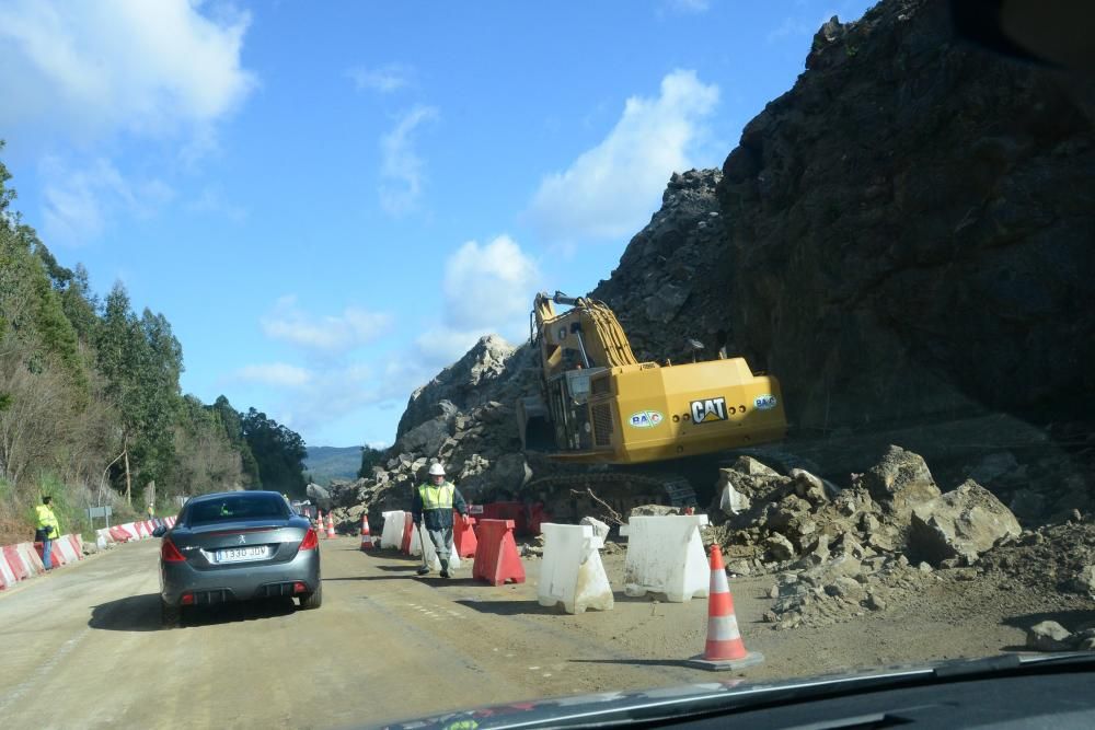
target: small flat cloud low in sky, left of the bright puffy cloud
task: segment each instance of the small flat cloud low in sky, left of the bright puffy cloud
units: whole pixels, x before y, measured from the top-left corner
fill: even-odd
[[[307,349],[327,354],[346,352],[372,341],[384,333],[391,316],[347,306],[339,315],[312,316],[297,306],[295,297],[283,297],[274,311],[262,318],[263,332]]]

